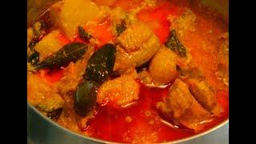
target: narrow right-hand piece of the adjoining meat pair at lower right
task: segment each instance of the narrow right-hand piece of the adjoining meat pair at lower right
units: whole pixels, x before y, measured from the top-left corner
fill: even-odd
[[[222,107],[218,105],[216,94],[213,88],[205,80],[190,78],[187,80],[189,89],[194,98],[208,111],[213,114],[220,114]]]

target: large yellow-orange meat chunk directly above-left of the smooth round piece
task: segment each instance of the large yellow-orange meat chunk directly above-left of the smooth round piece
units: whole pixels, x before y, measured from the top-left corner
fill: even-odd
[[[130,27],[136,27],[136,31],[129,30],[130,27],[126,29],[133,31],[134,34],[131,34],[130,32],[128,33],[125,30],[120,35],[119,42],[121,42],[121,46],[117,46],[114,70],[122,74],[130,68],[142,66],[144,63],[148,62],[150,58],[152,58],[157,52],[160,47],[159,39],[152,33],[152,31],[149,30],[148,27],[144,26],[145,25],[139,23],[134,24]]]

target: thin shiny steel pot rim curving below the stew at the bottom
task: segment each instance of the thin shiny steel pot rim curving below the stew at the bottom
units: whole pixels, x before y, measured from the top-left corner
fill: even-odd
[[[44,118],[46,120],[46,122],[50,122],[51,124],[53,124],[54,126],[56,126],[58,129],[61,129],[63,130],[63,132],[65,132],[66,134],[72,134],[76,137],[79,137],[79,138],[85,138],[87,140],[90,140],[92,142],[99,142],[99,143],[111,143],[111,144],[120,144],[120,143],[117,143],[117,142],[110,142],[110,141],[105,141],[105,140],[100,140],[98,138],[91,138],[91,137],[88,137],[86,135],[82,135],[82,134],[77,134],[71,130],[68,130],[66,129],[65,127],[59,125],[58,123],[52,121],[50,118],[47,118],[45,115],[41,114],[34,106],[32,106],[29,102],[27,102],[27,105],[32,109],[34,110],[37,114],[39,114],[42,118]],[[210,132],[213,132],[214,130],[217,130],[218,128],[224,126],[226,123],[229,122],[229,118],[226,119],[224,122],[218,124],[217,126],[214,126],[213,128],[211,128],[210,130],[206,130],[202,133],[199,133],[199,134],[195,134],[191,137],[188,137],[188,138],[182,138],[182,139],[179,139],[179,140],[176,140],[176,141],[172,141],[172,142],[161,142],[162,144],[174,144],[174,143],[179,143],[179,142],[185,142],[185,141],[189,141],[191,139],[194,139],[194,138],[198,138],[202,135],[205,135],[205,134],[209,134]]]

